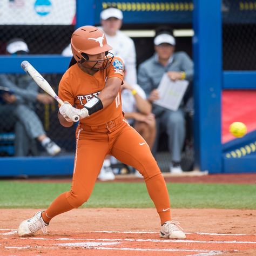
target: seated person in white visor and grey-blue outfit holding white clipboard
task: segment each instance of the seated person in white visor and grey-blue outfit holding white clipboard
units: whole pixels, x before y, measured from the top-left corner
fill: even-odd
[[[154,55],[139,66],[138,83],[146,92],[152,103],[152,112],[156,116],[157,136],[153,152],[156,153],[159,133],[162,130],[168,135],[171,153],[170,172],[181,173],[180,161],[185,139],[185,117],[183,103],[177,111],[167,110],[154,104],[159,99],[158,85],[165,73],[171,80],[186,79],[192,81],[193,62],[185,52],[174,52],[176,39],[169,28],[159,28],[154,37]]]

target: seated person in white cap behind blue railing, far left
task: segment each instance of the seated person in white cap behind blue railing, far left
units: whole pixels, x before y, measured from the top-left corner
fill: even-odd
[[[6,53],[9,55],[23,55],[28,52],[28,45],[21,38],[14,38],[6,45]],[[15,155],[26,156],[29,142],[34,139],[38,140],[51,156],[59,153],[60,147],[46,135],[34,106],[36,101],[50,104],[53,102],[52,97],[39,93],[36,83],[25,73],[0,74],[0,86],[6,89],[6,92],[1,94],[2,118],[4,115],[12,116],[12,120],[16,120],[15,130],[25,131],[24,136],[16,136],[19,142],[16,143]]]

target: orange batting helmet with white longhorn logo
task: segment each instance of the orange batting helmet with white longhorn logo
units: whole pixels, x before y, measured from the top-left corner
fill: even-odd
[[[77,62],[80,62],[86,59],[86,54],[95,55],[107,52],[112,47],[107,44],[102,30],[96,28],[96,26],[81,26],[72,34],[71,49],[73,57]],[[84,53],[86,54],[84,55]]]

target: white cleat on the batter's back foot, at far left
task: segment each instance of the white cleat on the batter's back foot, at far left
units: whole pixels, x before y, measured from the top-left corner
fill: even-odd
[[[32,218],[23,220],[18,228],[19,237],[29,237],[34,235],[38,230],[42,229],[42,232],[47,233],[48,224],[42,219],[42,212],[39,211]]]

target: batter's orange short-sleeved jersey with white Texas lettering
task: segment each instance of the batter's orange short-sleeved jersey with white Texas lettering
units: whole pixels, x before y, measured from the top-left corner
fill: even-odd
[[[120,63],[121,62],[121,63]],[[121,64],[121,65],[120,65]],[[105,83],[110,77],[124,78],[124,66],[120,58],[114,57],[111,64],[103,70],[99,70],[93,76],[82,71],[78,64],[71,66],[63,75],[59,83],[59,98],[69,102],[77,109],[83,109],[93,96],[98,96],[104,89]],[[121,93],[113,102],[102,110],[93,113],[90,117],[80,120],[86,125],[102,125],[122,115]]]

